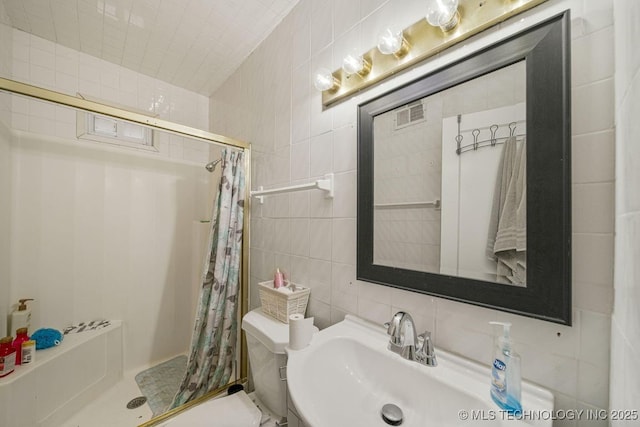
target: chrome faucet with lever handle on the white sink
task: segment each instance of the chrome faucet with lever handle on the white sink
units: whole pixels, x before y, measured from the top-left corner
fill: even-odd
[[[409,313],[399,311],[390,322],[384,324],[389,334],[387,348],[407,360],[422,365],[436,366],[436,353],[431,342],[431,332],[416,335],[416,326]]]

